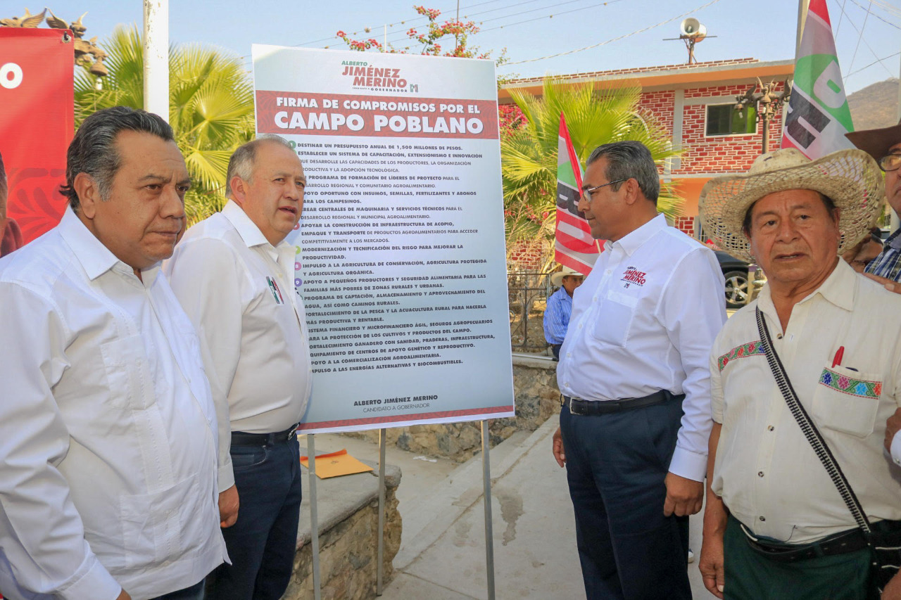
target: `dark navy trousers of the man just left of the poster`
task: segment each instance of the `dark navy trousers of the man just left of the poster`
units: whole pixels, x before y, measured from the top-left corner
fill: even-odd
[[[278,600],[294,568],[300,519],[297,440],[232,445],[238,520],[223,529],[232,565],[214,571],[210,600]]]

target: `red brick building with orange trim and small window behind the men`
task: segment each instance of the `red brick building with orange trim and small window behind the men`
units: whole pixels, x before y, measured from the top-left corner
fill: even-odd
[[[696,234],[697,198],[711,177],[737,173],[751,167],[760,155],[762,123],[756,109],[739,114],[734,110],[735,96],[744,94],[757,83],[783,83],[791,78],[795,61],[762,62],[757,59],[717,60],[693,65],[624,68],[562,76],[572,83],[594,83],[596,87],[641,86],[642,111],[652,114],[665,127],[683,154],[669,161],[662,173],[672,181],[684,198],[677,226]],[[510,89],[541,95],[543,77],[514,79],[498,91],[500,105],[513,103]],[[769,124],[769,148],[781,141],[782,114]]]

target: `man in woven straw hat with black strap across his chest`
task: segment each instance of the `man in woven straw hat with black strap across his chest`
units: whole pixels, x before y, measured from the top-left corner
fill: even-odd
[[[873,529],[901,529],[901,470],[882,449],[901,400],[901,298],[838,257],[882,208],[878,165],[860,150],[815,161],[777,150],[745,175],[708,182],[700,205],[716,244],[767,273],[710,356],[705,586],[720,598],[875,597],[867,541],[761,340],[769,337]]]

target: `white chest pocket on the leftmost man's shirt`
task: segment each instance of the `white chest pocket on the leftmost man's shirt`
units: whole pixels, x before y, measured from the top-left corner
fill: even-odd
[[[104,360],[109,404],[115,408],[144,409],[152,404],[148,394],[150,368],[140,335],[130,335],[100,344]]]

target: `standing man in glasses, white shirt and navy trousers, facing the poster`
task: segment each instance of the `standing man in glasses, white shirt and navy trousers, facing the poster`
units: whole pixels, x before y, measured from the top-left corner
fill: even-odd
[[[578,208],[608,240],[573,296],[557,380],[588,600],[690,600],[688,515],[701,509],[711,428],[707,358],[725,321],[714,253],[657,213],[637,141],[594,150]]]

